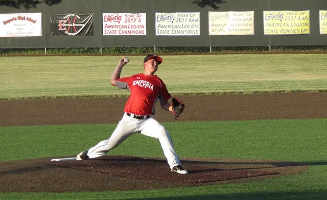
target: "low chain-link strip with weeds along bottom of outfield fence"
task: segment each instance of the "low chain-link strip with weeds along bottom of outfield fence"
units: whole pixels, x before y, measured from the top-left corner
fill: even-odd
[[[0,48],[0,55],[327,53],[327,45]]]

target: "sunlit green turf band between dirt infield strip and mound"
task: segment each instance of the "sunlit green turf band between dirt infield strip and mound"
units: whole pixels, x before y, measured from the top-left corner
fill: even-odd
[[[322,138],[325,138],[327,119],[163,124],[170,131],[180,157],[289,161],[325,159],[325,140]],[[115,126],[116,124],[2,127],[1,146],[11,151],[2,155],[0,159],[19,160],[75,155],[84,148],[107,139]],[[141,134],[134,134],[110,154],[164,156],[156,139]]]

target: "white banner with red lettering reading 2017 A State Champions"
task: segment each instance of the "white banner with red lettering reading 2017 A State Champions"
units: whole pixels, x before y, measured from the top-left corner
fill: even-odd
[[[103,35],[147,35],[146,13],[102,13]]]

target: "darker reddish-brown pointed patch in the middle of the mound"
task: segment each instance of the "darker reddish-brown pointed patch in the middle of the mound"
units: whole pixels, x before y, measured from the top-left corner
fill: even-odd
[[[59,167],[105,173],[133,179],[172,181],[181,183],[206,183],[277,174],[275,171],[245,169],[222,169],[204,167],[199,164],[183,163],[188,174],[171,172],[166,160],[127,156],[102,157],[82,161],[46,161],[46,164]]]

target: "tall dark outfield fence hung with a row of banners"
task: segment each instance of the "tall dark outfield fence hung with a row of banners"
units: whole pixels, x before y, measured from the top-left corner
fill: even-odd
[[[0,1],[0,55],[327,53],[326,0],[22,2]]]

